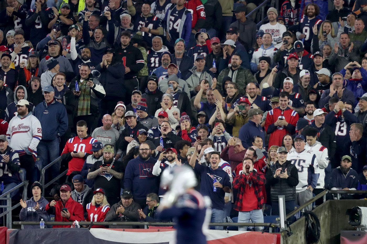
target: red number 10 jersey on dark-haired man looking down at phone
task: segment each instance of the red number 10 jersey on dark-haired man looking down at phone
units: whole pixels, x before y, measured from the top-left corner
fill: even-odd
[[[68,142],[65,144],[64,150],[62,154],[67,154],[69,152],[84,152],[86,154],[92,154],[92,144],[95,143],[97,140],[91,136],[87,136],[83,139],[80,139],[79,136],[70,138]],[[83,168],[85,159],[84,158],[72,158],[69,161],[69,169],[66,175],[71,174],[73,171],[81,171]]]

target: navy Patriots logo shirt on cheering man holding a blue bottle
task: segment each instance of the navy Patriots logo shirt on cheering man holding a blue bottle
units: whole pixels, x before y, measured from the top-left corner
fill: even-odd
[[[195,164],[194,168],[196,173],[201,176],[200,193],[204,196],[209,196],[212,201],[213,207],[215,209],[224,209],[224,194],[222,188],[217,188],[217,191],[213,191],[214,180],[221,183],[224,187],[228,186],[232,189],[232,184],[229,180],[229,175],[226,171],[222,170],[221,167],[213,170],[211,167],[206,166],[206,164]]]

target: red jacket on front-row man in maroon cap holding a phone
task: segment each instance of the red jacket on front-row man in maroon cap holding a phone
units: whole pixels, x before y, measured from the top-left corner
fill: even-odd
[[[52,209],[53,208],[53,209]],[[67,208],[70,213],[70,218],[64,218],[61,216],[62,208]],[[62,200],[58,200],[54,207],[50,207],[50,203],[46,205],[47,212],[53,212],[55,210],[55,222],[74,222],[74,221],[83,221],[84,220],[84,210],[83,205],[75,202],[71,196],[66,201],[65,206],[62,203]],[[52,228],[70,228],[69,225],[54,225]]]

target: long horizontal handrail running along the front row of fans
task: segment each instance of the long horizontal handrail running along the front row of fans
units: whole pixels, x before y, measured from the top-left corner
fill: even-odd
[[[39,225],[40,222],[36,221],[14,221],[14,225]],[[72,225],[73,222],[54,222],[46,221],[45,225]],[[79,221],[79,225],[152,225],[152,226],[174,226],[173,222],[82,222]],[[278,227],[279,223],[209,223],[209,226],[265,226],[265,227]]]

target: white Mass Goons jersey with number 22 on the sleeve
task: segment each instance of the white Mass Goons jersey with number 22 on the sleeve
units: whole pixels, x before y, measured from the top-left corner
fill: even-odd
[[[24,155],[28,148],[33,156],[37,157],[37,145],[42,139],[42,127],[40,121],[29,112],[26,117],[14,116],[10,122],[6,133],[9,146],[14,149],[19,156]]]

